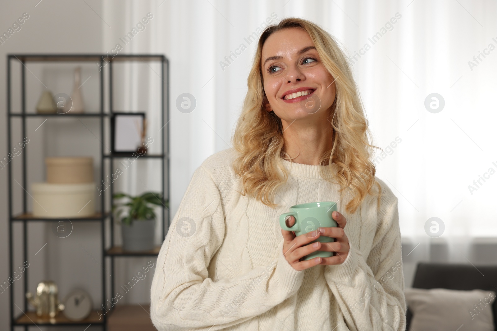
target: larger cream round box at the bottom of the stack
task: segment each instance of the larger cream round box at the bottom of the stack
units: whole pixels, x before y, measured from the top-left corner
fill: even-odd
[[[32,183],[33,216],[86,217],[95,213],[96,184]]]

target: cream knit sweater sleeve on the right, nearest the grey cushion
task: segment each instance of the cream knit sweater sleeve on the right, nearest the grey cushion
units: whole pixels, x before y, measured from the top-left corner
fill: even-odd
[[[337,330],[406,330],[398,200],[392,197],[378,212],[380,227],[369,256],[349,241],[345,261],[325,265],[326,282],[337,298],[334,312],[341,325]]]

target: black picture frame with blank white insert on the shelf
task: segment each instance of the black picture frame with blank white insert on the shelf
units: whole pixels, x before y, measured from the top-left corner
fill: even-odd
[[[112,113],[110,121],[112,154],[129,155],[138,152],[142,144],[145,112]]]

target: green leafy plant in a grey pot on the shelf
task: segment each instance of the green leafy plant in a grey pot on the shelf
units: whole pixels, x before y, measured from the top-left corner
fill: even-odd
[[[114,194],[114,199],[123,198],[127,198],[127,202],[118,202],[112,206],[116,219],[121,222],[123,250],[148,251],[154,249],[156,220],[154,205],[168,207],[168,201],[163,199],[161,193],[155,192],[145,192],[137,197],[125,193]],[[125,210],[127,212],[121,218],[121,214]]]

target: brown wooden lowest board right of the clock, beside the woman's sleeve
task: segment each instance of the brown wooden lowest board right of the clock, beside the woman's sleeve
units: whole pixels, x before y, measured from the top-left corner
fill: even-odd
[[[108,331],[157,331],[150,320],[149,305],[118,305],[109,314]]]

